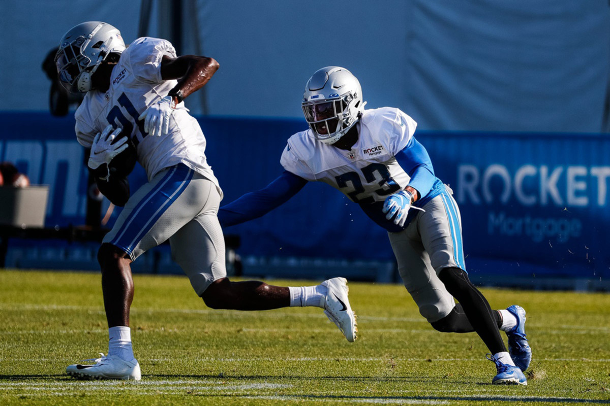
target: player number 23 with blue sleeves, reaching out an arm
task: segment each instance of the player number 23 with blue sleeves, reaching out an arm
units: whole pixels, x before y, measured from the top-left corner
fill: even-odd
[[[328,66],[315,72],[302,100],[309,129],[289,138],[281,156],[284,172],[264,189],[221,207],[221,224],[260,217],[308,181],[336,187],[388,231],[404,286],[432,327],[475,331],[497,366],[492,383],[526,385],[531,349],[525,310],[490,309],[468,279],[458,205],[414,138],[415,121],[398,108],[364,105],[350,71]],[[498,329],[508,335],[509,351]]]

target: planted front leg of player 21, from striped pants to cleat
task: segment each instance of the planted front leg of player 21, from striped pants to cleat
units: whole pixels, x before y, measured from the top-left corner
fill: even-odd
[[[70,365],[66,369],[68,374],[97,379],[140,379],[129,329],[134,295],[130,264],[149,248],[167,240],[201,209],[192,209],[190,214],[187,210],[178,213],[172,209],[176,201],[184,198],[193,174],[184,165],[160,172],[129,198],[104,237],[98,260],[109,326],[108,355],[96,359],[95,365]]]

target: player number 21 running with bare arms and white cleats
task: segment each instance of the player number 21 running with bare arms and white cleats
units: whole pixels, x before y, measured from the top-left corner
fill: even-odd
[[[68,30],[56,55],[62,84],[85,93],[76,110],[76,136],[90,149],[88,167],[99,190],[124,206],[98,251],[109,349],[93,365],[66,373],[98,379],[140,379],[129,329],[134,296],[132,261],[170,240],[171,253],[197,295],[213,309],[266,310],[317,306],[348,341],[356,339],[355,315],[343,278],[317,286],[278,287],[226,277],[222,198],[206,160],[206,138],[184,99],[218,69],[213,58],[177,56],[170,42],[138,38],[125,46],[118,29],[88,21]],[[133,195],[127,179],[113,175],[113,158],[134,145],[148,183]],[[120,166],[120,165],[119,165]]]

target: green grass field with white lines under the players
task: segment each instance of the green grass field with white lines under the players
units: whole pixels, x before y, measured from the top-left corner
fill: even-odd
[[[607,294],[484,289],[528,312],[529,385],[506,387],[475,334],[434,331],[399,285],[350,283],[348,343],[321,309],[211,310],[186,278],[136,275],[142,381],[74,380],[107,351],[99,279],[0,270],[0,405],[610,404]]]

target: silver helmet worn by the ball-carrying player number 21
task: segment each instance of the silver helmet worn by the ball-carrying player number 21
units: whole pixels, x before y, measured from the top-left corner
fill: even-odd
[[[71,93],[90,91],[91,75],[110,54],[121,54],[125,43],[121,32],[101,21],[87,21],[63,35],[55,64],[59,81]]]

